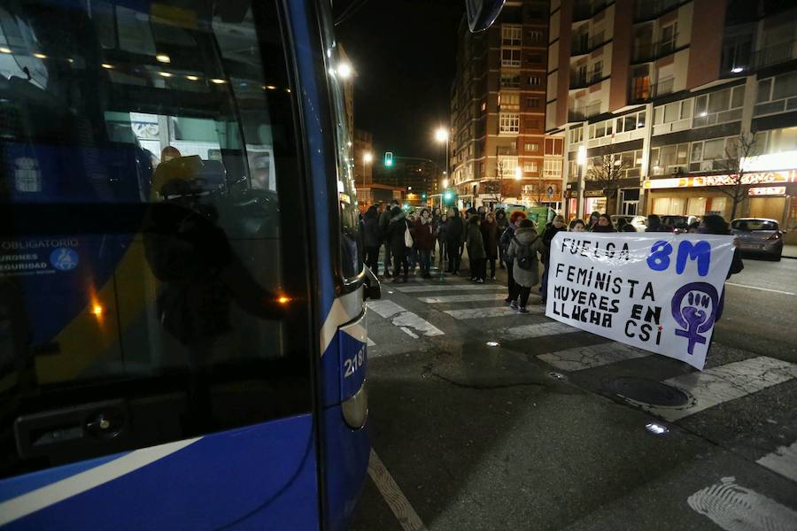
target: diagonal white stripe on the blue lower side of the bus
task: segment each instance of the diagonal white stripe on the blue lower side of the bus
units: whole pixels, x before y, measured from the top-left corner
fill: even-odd
[[[52,504],[58,504],[58,502],[77,496],[81,492],[99,487],[108,481],[113,481],[154,461],[166,458],[169,454],[196,443],[200,438],[186,439],[185,441],[160,444],[151,448],[131,451],[103,465],[89,468],[85,472],[76,473],[61,481],[50,483],[50,485],[41,489],[35,489],[22,496],[7,500],[0,504],[0,526],[40,511]]]

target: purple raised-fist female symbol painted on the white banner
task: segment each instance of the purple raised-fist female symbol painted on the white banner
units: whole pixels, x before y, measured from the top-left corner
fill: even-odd
[[[705,344],[706,338],[701,334],[714,324],[718,300],[716,288],[707,282],[686,284],[672,297],[672,316],[684,328],[676,330],[676,335],[686,338],[689,354],[694,353],[695,343]]]

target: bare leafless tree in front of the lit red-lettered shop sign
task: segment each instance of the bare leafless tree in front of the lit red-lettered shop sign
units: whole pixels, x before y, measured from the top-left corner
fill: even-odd
[[[731,197],[731,219],[736,218],[739,204],[747,198],[750,189],[762,183],[762,177],[747,171],[750,162],[760,154],[755,142],[754,133],[742,133],[728,142],[725,158],[714,161],[714,168],[724,174],[706,177],[708,182],[715,183],[708,189]]]

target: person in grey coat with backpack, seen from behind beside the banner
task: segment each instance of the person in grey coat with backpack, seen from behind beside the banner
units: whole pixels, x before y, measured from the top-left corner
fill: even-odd
[[[507,258],[513,260],[512,273],[515,276],[515,296],[509,304],[518,313],[528,313],[531,288],[539,282],[539,260],[537,253],[543,250],[542,238],[530,219],[523,219],[507,250]],[[510,294],[512,296],[512,294]]]

